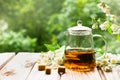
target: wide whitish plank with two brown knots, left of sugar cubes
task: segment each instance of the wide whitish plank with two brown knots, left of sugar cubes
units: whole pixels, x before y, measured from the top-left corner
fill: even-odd
[[[0,80],[25,80],[34,66],[38,54],[19,53],[1,69]]]

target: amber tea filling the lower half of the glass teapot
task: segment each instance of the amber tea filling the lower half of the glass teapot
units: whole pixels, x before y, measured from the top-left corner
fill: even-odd
[[[93,50],[69,49],[65,51],[64,65],[75,71],[91,71],[95,68],[95,53]]]

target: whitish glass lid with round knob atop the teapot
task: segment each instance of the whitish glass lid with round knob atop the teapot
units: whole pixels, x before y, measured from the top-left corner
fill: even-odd
[[[77,26],[68,28],[68,32],[71,35],[90,35],[92,30],[89,27],[82,26],[81,21],[77,21]]]

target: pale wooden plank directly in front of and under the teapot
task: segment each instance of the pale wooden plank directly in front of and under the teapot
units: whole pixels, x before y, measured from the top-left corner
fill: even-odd
[[[91,72],[74,72],[67,70],[67,73],[62,76],[62,80],[101,80],[101,78],[97,69]]]

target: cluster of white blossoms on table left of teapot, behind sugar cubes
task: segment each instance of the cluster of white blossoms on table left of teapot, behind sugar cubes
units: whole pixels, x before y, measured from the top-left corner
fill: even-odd
[[[58,65],[63,64],[64,49],[65,46],[62,46],[60,49],[55,50],[55,52],[42,52],[36,62],[39,64],[52,66],[54,69],[56,69]]]

